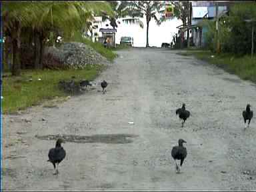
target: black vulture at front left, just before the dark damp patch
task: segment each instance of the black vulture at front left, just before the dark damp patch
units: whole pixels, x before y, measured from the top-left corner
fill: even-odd
[[[53,173],[54,175],[57,175],[59,173],[58,165],[66,156],[66,151],[65,149],[63,149],[63,147],[61,147],[61,143],[65,143],[65,141],[63,139],[57,139],[55,148],[50,149],[48,153],[48,161],[53,163],[53,167],[55,170],[55,173]]]

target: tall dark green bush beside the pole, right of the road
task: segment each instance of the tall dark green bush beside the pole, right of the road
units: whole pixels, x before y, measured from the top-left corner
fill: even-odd
[[[255,23],[247,23],[245,19],[256,20],[255,3],[233,5],[229,16],[220,19],[219,42],[222,53],[234,53],[238,56],[251,53],[251,26]],[[208,29],[205,33],[206,47],[214,52],[216,47],[215,22],[203,21],[202,25]]]

